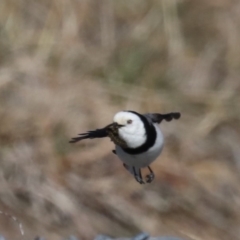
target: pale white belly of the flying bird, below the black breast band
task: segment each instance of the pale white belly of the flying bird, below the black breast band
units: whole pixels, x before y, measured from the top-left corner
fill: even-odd
[[[160,155],[164,145],[164,137],[159,126],[154,124],[154,127],[157,132],[157,138],[154,145],[146,152],[131,155],[123,151],[120,146],[116,145],[116,153],[122,162],[124,162],[128,166],[142,168],[150,165]]]

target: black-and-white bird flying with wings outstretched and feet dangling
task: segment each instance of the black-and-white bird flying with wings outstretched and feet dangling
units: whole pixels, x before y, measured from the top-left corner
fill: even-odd
[[[85,139],[109,137],[114,143],[114,154],[123,162],[140,184],[151,183],[155,174],[150,164],[161,154],[164,136],[159,124],[165,120],[179,119],[180,112],[140,114],[131,110],[117,112],[113,122],[103,128],[78,134],[69,142],[76,143]],[[142,177],[141,169],[148,168],[149,174]]]

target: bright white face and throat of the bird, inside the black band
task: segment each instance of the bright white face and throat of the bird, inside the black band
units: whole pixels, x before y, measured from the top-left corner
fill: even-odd
[[[146,130],[140,117],[131,112],[118,112],[113,121],[124,125],[119,128],[119,136],[129,148],[137,148],[146,142]]]

